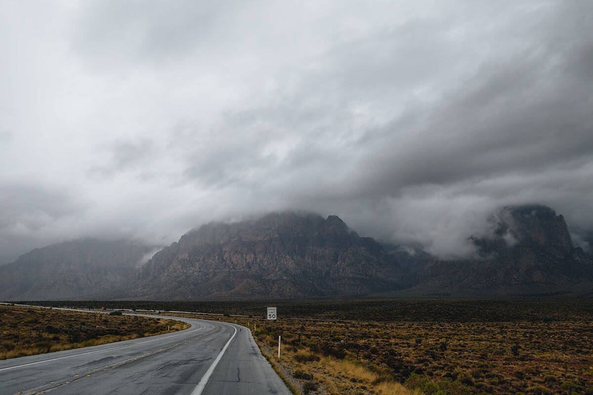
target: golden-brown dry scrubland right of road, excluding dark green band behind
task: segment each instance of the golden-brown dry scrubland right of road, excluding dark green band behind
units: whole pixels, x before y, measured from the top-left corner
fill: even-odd
[[[200,317],[257,324],[274,358],[282,335],[279,362],[330,394],[593,394],[589,321],[278,320],[272,336],[263,319]]]

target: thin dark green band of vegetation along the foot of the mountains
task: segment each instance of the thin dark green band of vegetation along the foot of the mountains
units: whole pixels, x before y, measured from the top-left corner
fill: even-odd
[[[301,319],[501,322],[593,320],[593,300],[572,299],[340,299],[257,301],[19,301],[53,307],[174,310],[264,316],[267,306],[278,317]]]

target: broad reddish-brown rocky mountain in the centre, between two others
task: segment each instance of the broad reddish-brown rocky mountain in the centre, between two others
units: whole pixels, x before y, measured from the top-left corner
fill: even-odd
[[[155,254],[137,280],[131,298],[336,296],[409,286],[374,239],[339,217],[298,213],[206,224]]]

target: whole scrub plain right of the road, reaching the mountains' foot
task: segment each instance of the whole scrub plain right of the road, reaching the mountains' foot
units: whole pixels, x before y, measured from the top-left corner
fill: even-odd
[[[215,311],[203,303],[202,312]],[[220,315],[185,315],[250,327],[301,394],[593,394],[592,300],[249,303],[215,302]],[[273,333],[256,317],[266,305],[278,307]]]

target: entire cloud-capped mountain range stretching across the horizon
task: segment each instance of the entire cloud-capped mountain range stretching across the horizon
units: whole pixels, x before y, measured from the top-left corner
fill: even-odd
[[[0,299],[592,294],[593,259],[573,244],[562,215],[506,206],[487,222],[467,237],[475,253],[459,259],[378,243],[337,216],[292,211],[204,224],[156,253],[139,242],[79,239],[1,266]]]

